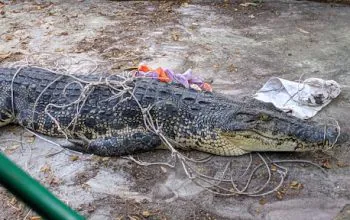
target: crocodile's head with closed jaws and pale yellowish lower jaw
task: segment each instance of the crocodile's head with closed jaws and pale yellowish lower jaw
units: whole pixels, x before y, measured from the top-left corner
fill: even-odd
[[[235,154],[237,149],[242,152],[326,150],[348,139],[334,125],[303,121],[277,111],[230,112],[224,121],[220,136],[226,144],[225,155]]]

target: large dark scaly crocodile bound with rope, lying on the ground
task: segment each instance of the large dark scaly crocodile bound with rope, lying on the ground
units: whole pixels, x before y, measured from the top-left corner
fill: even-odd
[[[112,80],[119,86],[108,85]],[[145,124],[145,114],[156,129]],[[162,137],[176,148],[221,156],[326,150],[348,140],[335,127],[259,101],[154,79],[67,75],[37,67],[0,68],[0,126],[8,124],[65,137],[70,144],[63,147],[100,156],[164,148]]]

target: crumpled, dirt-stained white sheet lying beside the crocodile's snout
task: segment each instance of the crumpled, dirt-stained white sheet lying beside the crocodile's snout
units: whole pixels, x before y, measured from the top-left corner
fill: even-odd
[[[308,119],[328,105],[340,91],[340,85],[333,80],[308,78],[298,83],[274,77],[265,83],[254,98],[271,102],[295,117]]]

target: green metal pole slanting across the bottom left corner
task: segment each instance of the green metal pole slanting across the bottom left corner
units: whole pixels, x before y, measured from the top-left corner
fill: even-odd
[[[39,182],[30,177],[16,164],[0,152],[0,184],[20,198],[45,219],[83,220],[83,216],[73,211],[50,193]]]

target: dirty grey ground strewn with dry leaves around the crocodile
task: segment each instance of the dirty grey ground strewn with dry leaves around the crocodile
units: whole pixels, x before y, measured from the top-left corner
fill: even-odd
[[[212,81],[216,91],[240,98],[254,94],[272,76],[333,79],[343,86],[342,93],[314,120],[334,118],[342,131],[350,131],[348,5],[288,0],[0,1],[0,65],[44,52],[93,59],[110,72],[139,63],[178,72],[192,68]],[[60,152],[18,127],[2,128],[0,136],[22,140],[2,142],[0,148],[88,219],[319,220],[339,212],[339,219],[347,219],[349,214],[349,144],[327,153],[269,154],[313,161],[327,168],[327,175],[313,166],[286,165],[283,191],[261,198],[214,195],[188,180],[180,166],[145,167],[124,158]],[[154,161],[167,155],[156,151],[139,158]],[[219,172],[225,160],[214,158],[212,171]],[[237,169],[244,169],[248,160],[233,159]],[[293,181],[302,187],[290,187]],[[0,213],[0,219],[36,216],[2,188]]]

